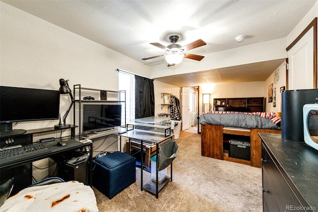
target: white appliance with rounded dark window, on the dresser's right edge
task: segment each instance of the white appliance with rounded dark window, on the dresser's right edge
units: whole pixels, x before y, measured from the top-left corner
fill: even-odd
[[[318,104],[303,106],[305,142],[318,150]]]

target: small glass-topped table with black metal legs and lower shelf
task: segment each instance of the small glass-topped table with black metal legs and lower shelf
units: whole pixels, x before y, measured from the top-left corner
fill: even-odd
[[[165,135],[165,133],[140,130],[140,129],[132,129],[132,130],[128,130],[124,133],[114,133],[114,134],[120,136],[120,142],[121,142],[122,136],[129,138],[129,145],[130,145],[130,139],[139,140],[141,142],[141,146],[143,146],[144,141],[155,143],[156,147],[157,147],[156,148],[157,158],[159,155],[159,152],[158,152],[159,144],[168,140],[168,139],[172,139],[172,136],[173,136],[173,134]],[[143,151],[140,151],[140,152],[141,152],[141,164],[143,164]],[[156,189],[154,188],[155,183],[152,182],[151,180],[145,186],[143,186],[143,167],[141,167],[141,176],[140,176],[140,178],[141,178],[141,191],[143,191],[143,189],[145,189],[146,191],[149,191],[150,193],[155,194],[157,199],[158,199],[158,193],[164,187],[164,185],[167,184],[167,182],[169,180],[172,182],[172,163],[171,163],[170,164],[170,168],[171,168],[170,178],[167,177],[160,185],[158,184],[158,164],[159,164],[159,160],[157,160],[157,167],[156,167]]]

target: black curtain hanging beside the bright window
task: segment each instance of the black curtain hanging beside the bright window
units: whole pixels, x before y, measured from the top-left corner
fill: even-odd
[[[154,80],[135,75],[135,118],[155,115]]]

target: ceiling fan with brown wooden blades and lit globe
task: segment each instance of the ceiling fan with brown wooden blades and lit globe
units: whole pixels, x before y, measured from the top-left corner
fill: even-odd
[[[192,59],[192,60],[197,60],[197,61],[201,61],[204,58],[204,56],[201,56],[201,55],[185,53],[185,51],[187,50],[191,50],[191,49],[206,45],[206,43],[203,40],[199,39],[185,46],[181,46],[179,44],[176,44],[178,39],[179,39],[179,36],[177,35],[170,36],[169,40],[172,44],[168,46],[163,46],[160,43],[150,43],[154,46],[159,47],[160,49],[165,50],[165,54],[148,57],[148,58],[142,58],[142,60],[150,60],[150,59],[165,56],[165,60],[167,61],[168,66],[174,66],[175,64],[180,63],[183,57]]]

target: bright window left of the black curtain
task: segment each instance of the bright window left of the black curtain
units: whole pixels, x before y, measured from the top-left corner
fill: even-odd
[[[135,75],[126,72],[118,72],[119,90],[126,91],[126,121],[135,119]],[[125,109],[122,109],[122,117],[125,117]]]

